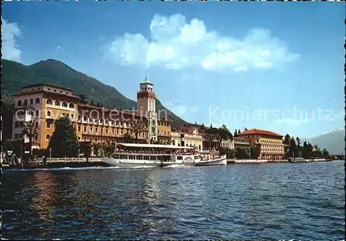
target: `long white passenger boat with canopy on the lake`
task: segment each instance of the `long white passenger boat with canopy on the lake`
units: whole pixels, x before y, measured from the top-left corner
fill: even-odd
[[[215,166],[226,165],[226,155],[212,158],[200,155],[197,147],[161,144],[117,144],[111,157],[103,162],[119,167],[160,167],[172,165]]]

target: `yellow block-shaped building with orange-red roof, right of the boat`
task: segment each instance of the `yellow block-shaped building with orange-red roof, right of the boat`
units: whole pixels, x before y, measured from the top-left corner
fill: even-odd
[[[260,150],[258,159],[281,160],[284,157],[284,144],[282,135],[271,131],[251,129],[239,133],[237,137],[246,138],[251,146],[257,146]]]

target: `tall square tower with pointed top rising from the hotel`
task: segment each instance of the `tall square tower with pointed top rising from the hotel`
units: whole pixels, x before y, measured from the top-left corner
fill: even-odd
[[[145,77],[145,81],[139,84],[137,92],[137,111],[140,115],[147,117],[149,126],[149,139],[157,141],[157,113],[156,113],[156,95],[153,90],[153,84]]]

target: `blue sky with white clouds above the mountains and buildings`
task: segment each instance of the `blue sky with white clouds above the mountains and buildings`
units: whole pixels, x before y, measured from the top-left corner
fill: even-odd
[[[147,75],[188,122],[303,138],[345,126],[343,3],[3,2],[2,13],[3,58],[57,59],[130,99]]]

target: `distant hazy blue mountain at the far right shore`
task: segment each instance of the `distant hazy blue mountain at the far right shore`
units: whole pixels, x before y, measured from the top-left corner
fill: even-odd
[[[345,128],[328,131],[317,137],[304,139],[321,149],[326,148],[331,154],[345,154]]]

